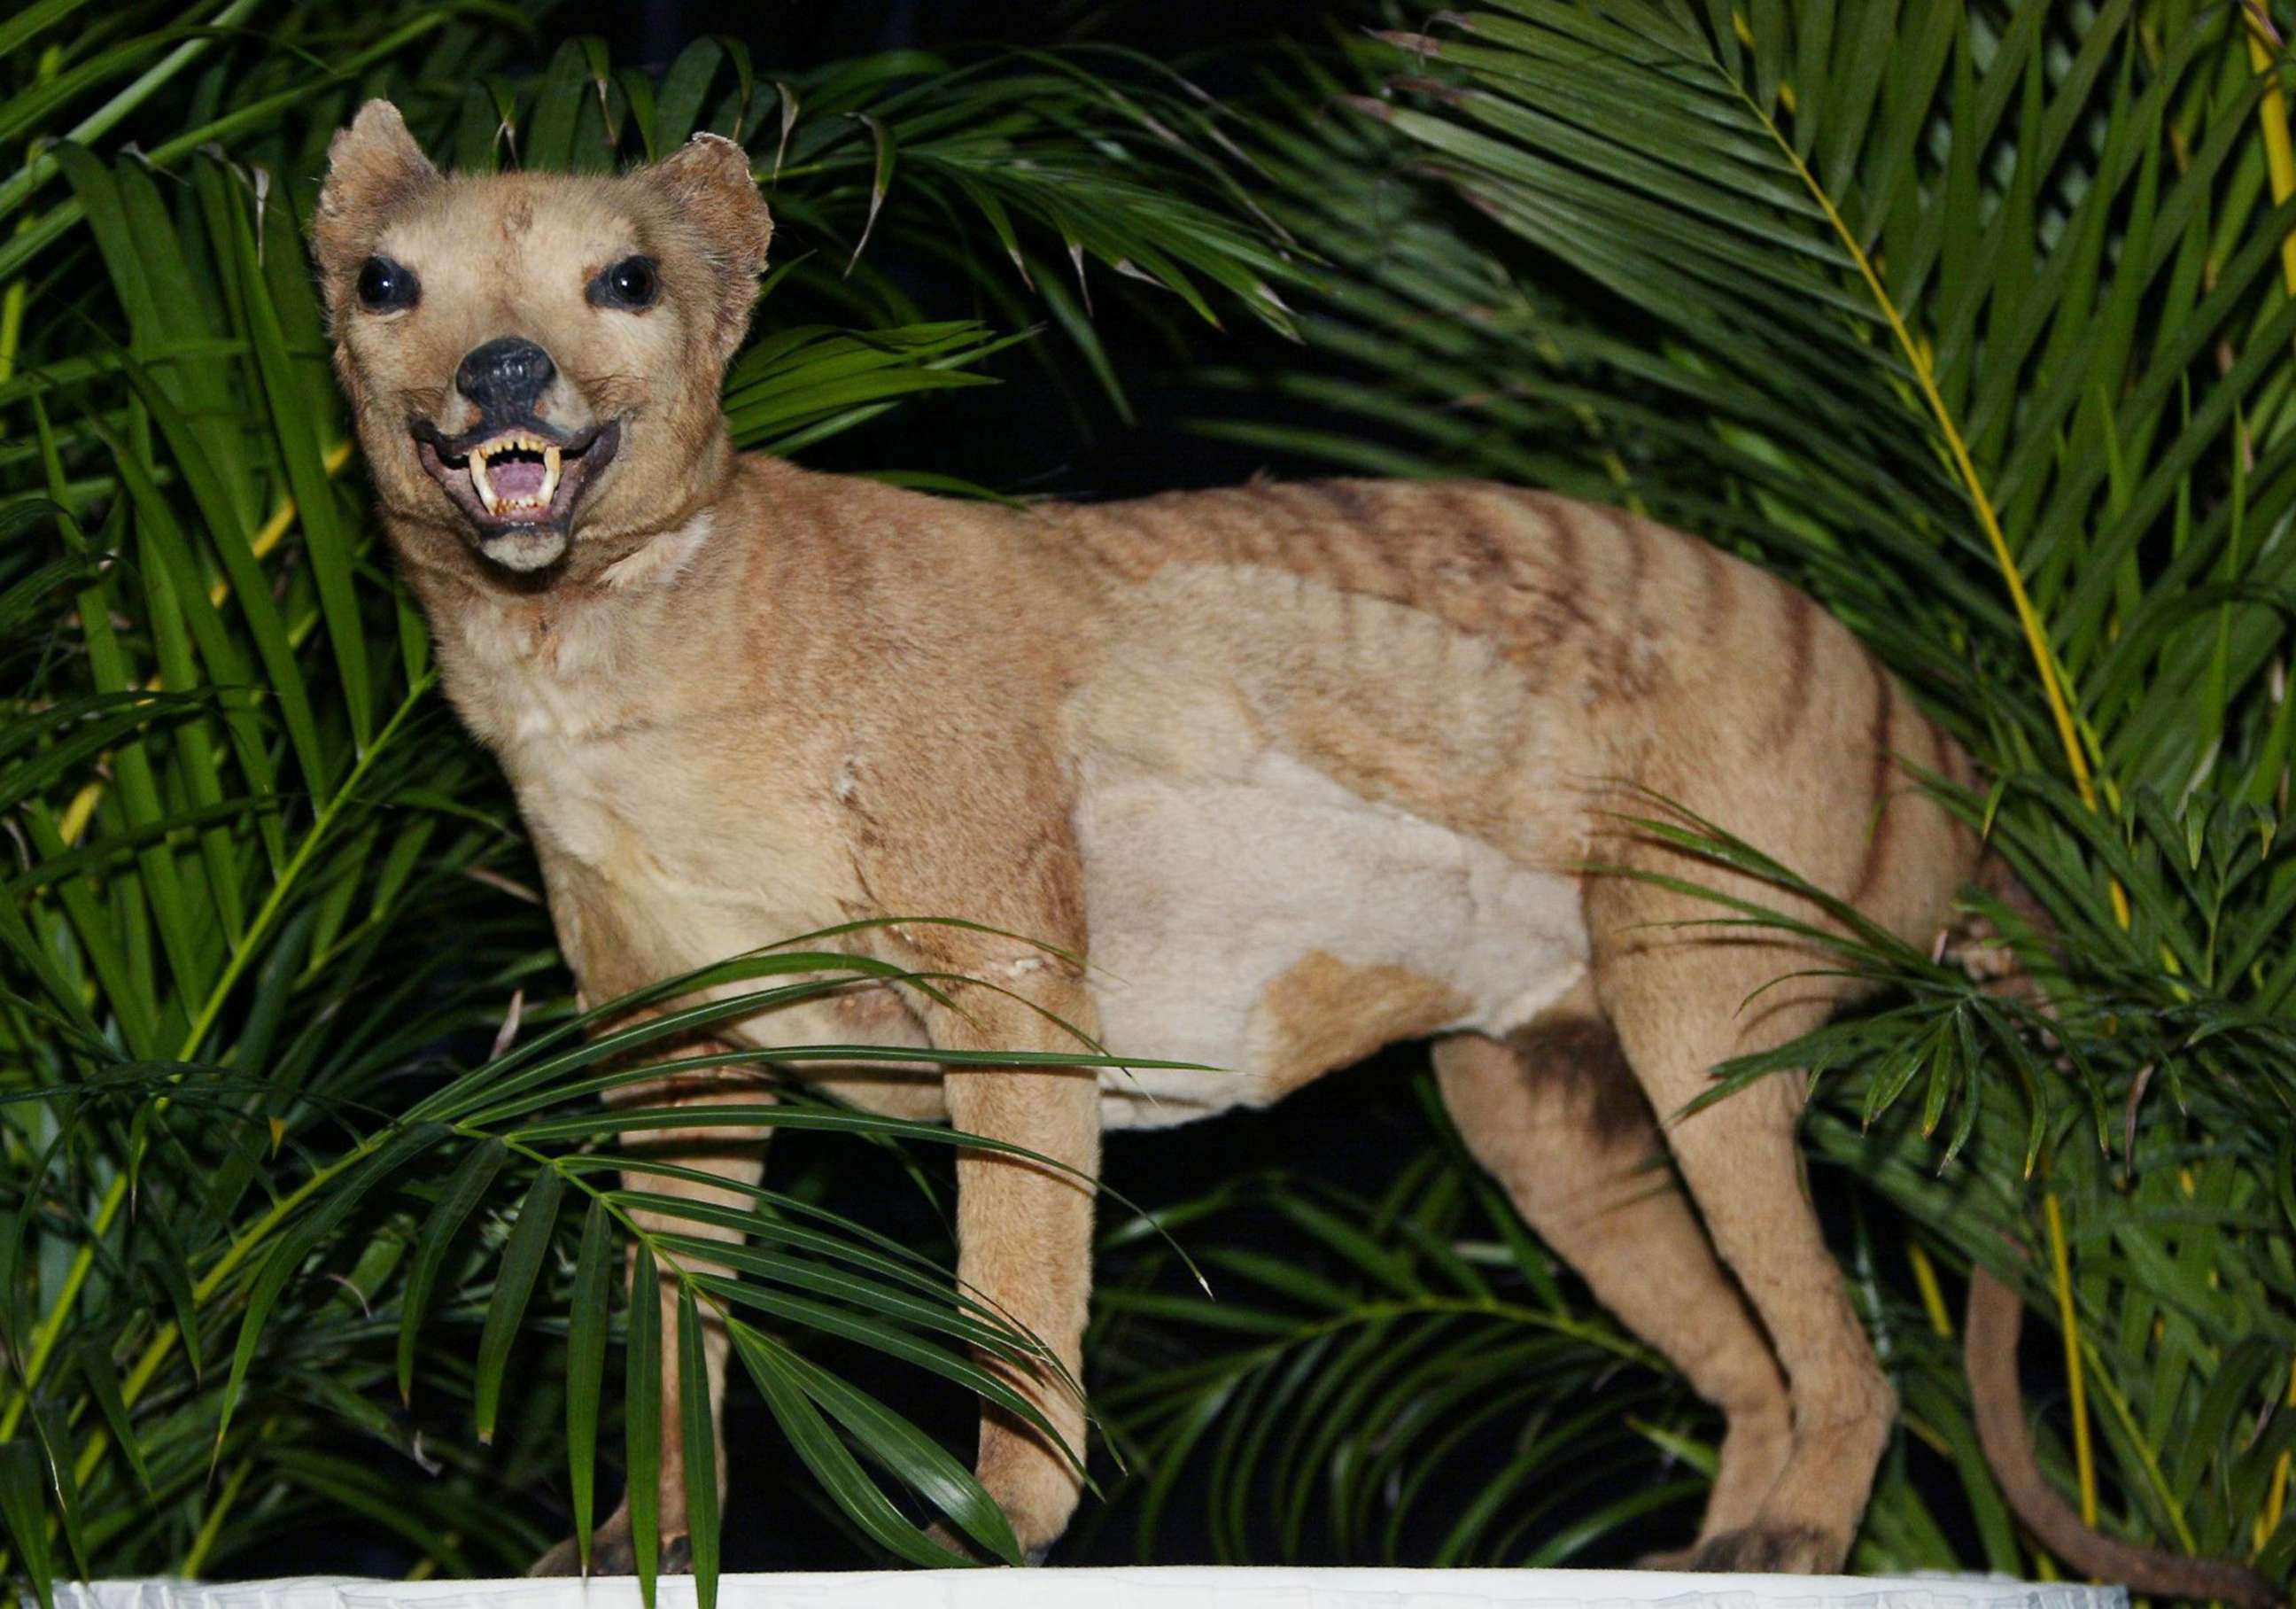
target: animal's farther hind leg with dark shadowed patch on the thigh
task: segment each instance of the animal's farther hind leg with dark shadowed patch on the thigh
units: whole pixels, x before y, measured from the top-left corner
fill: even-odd
[[[1665,1166],[1591,987],[1504,1044],[1440,1042],[1435,1074],[1460,1138],[1522,1221],[1727,1416],[1699,1540],[1750,1524],[1791,1451],[1786,1382]]]

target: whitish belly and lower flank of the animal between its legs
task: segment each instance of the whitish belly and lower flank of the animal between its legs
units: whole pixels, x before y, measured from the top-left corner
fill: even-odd
[[[1263,751],[1244,776],[1088,778],[1109,1127],[1263,1106],[1396,1040],[1508,1033],[1587,971],[1575,879]]]

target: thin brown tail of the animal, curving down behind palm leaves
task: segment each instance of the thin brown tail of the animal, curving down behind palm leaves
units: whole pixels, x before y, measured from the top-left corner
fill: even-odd
[[[1986,854],[1977,884],[2018,914],[2034,932],[2048,934],[2041,904],[1998,854]],[[2048,1010],[2041,987],[2016,964],[2002,934],[1986,918],[1965,920],[1947,939],[1961,966],[1991,994],[2016,996]],[[2025,1428],[2025,1391],[2016,1370],[2016,1343],[2025,1327],[2025,1299],[1981,1262],[1970,1269],[1963,1366],[1977,1414],[1977,1444],[2002,1483],[2016,1517],[2041,1542],[2082,1575],[2119,1581],[2133,1593],[2161,1598],[2220,1600],[2243,1609],[2280,1609],[2287,1593],[2264,1575],[2227,1559],[2190,1559],[2165,1547],[2140,1547],[2105,1536],[2073,1510],[2041,1474]]]

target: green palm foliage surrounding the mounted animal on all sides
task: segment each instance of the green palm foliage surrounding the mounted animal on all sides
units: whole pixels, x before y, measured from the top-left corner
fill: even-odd
[[[386,92],[464,165],[744,138],[783,225],[728,381],[744,445],[882,468],[886,409],[1029,365],[1127,411],[1102,331],[1130,319],[1203,356],[1228,448],[1628,503],[1823,597],[2000,778],[1956,803],[2057,932],[2027,943],[2046,1019],[1844,946],[1894,989],[1800,1051],[1908,1405],[1855,1563],[2050,1570],[1968,1423],[1945,1288],[1986,1260],[2055,1327],[2030,1359],[2055,1478],[2115,1531],[2289,1579],[2296,170],[2271,18],[1373,21],[1270,53],[1249,112],[1114,50],[781,73],[709,39],[652,76],[574,39],[517,76],[482,5],[0,21],[9,1570],[259,1568],[321,1517],[418,1570],[517,1570],[595,1506],[602,1444],[657,1446],[647,1393],[599,1409],[608,1343],[636,1379],[687,1343],[606,1327],[634,1196],[595,1093],[650,1040],[579,1042],[326,372],[298,220],[328,131]],[[967,491],[941,477],[916,480]],[[1743,858],[1729,826],[1688,831]],[[753,1116],[937,1189],[946,1136]],[[1120,1467],[1095,1464],[1114,1503],[1075,1547],[1564,1563],[1694,1513],[1715,1423],[1426,1132],[1371,1196],[1286,1171],[1109,1205]],[[737,1317],[856,1556],[941,1559],[932,1515],[1008,1552],[934,1437],[824,1359],[957,1393],[990,1382],[969,1345],[1029,1338],[804,1171],[771,1184],[744,1276],[687,1281],[689,1315]]]

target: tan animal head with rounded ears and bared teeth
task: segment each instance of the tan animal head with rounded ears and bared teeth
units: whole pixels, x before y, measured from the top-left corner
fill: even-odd
[[[441,174],[388,101],[328,151],[312,255],[402,539],[611,562],[726,473],[771,216],[732,140],[629,174]]]

